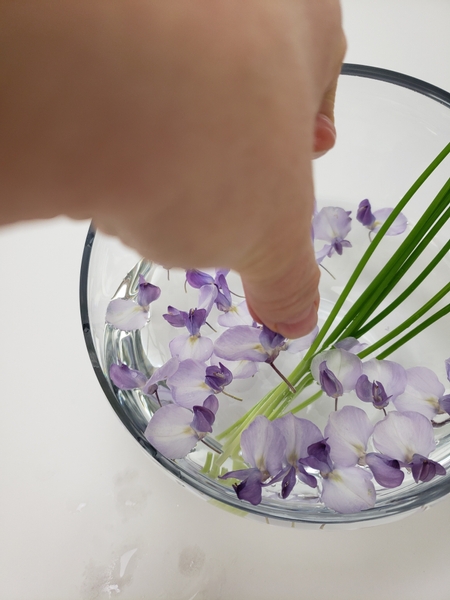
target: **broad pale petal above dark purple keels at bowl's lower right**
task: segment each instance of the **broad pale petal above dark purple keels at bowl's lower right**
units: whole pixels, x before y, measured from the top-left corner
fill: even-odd
[[[373,443],[381,454],[403,463],[414,454],[428,456],[436,447],[433,426],[417,412],[390,412],[375,425]]]

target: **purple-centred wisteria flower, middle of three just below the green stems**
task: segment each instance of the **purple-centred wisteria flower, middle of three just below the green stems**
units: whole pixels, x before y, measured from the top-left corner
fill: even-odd
[[[362,370],[356,382],[356,395],[363,402],[372,402],[375,408],[386,408],[405,391],[406,372],[396,362],[373,358],[362,364]]]

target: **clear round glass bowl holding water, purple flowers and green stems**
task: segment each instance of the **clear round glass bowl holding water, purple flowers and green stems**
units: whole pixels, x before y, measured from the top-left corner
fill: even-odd
[[[400,73],[347,64],[344,65],[338,86],[336,123],[338,139],[335,149],[314,165],[316,197],[320,206],[340,206],[352,210],[353,215],[364,198],[369,198],[376,208],[394,206],[450,141],[450,94]],[[408,205],[405,212],[410,223],[417,220],[423,206],[444,184],[449,171],[447,158],[436,175]],[[367,231],[361,227],[355,236],[352,238],[353,245],[365,249],[368,243]],[[449,237],[447,223],[435,243],[442,245]],[[400,241],[394,241],[384,250],[384,254],[377,255],[380,264],[384,264]],[[334,280],[326,273],[322,276],[319,324],[326,319],[360,255],[357,251],[353,253],[353,258],[348,253],[345,261],[330,260],[324,263],[328,269],[339,271],[339,278]],[[447,257],[426,280],[423,291],[415,296],[414,301],[407,302],[406,310],[413,312],[430,297],[430,290],[440,289],[442,278],[448,280],[449,269],[450,261]],[[165,306],[156,308],[155,303],[150,324],[142,333],[125,334],[105,326],[109,301],[119,289],[121,297],[135,289],[138,273],[146,275],[148,281],[156,283],[163,288],[163,293],[169,294],[170,302],[163,302],[163,305],[170,303],[177,308],[185,306],[183,286],[179,286],[181,291],[173,291],[177,280],[183,281],[183,274],[171,272],[168,281],[164,269],[142,262],[134,251],[117,239],[90,229],[84,249],[80,286],[83,331],[89,356],[106,397],[128,431],[168,473],[197,491],[204,499],[216,502],[241,516],[246,514],[266,523],[310,528],[325,525],[328,529],[355,528],[395,520],[423,509],[450,491],[450,425],[437,430],[437,449],[431,456],[447,468],[445,477],[435,477],[428,483],[420,484],[406,478],[406,483],[400,488],[379,492],[374,508],[351,515],[337,514],[314,497],[309,501],[307,498],[303,498],[302,502],[286,501],[270,491],[258,506],[243,503],[229,485],[223,485],[201,472],[205,456],[205,450],[199,448],[201,444],[198,444],[198,450],[182,460],[174,461],[162,456],[144,437],[147,423],[157,405],[140,392],[117,390],[108,375],[110,365],[118,360],[150,375],[154,367],[170,358],[167,348],[170,328],[158,325],[162,319],[157,311],[164,312]],[[368,271],[365,281],[370,281],[371,276]],[[238,278],[231,281],[230,287],[239,291]],[[364,284],[363,281],[355,287],[344,309],[351,306]],[[194,305],[195,301],[192,306]],[[378,326],[378,331],[372,331],[366,341],[373,341],[378,335],[384,334],[386,329],[396,324],[395,319],[394,313],[387,322]],[[392,359],[398,360],[406,368],[420,365],[434,369],[441,376],[440,379],[445,381],[443,361],[450,356],[450,343],[444,332],[448,331],[450,320],[447,316],[398,350],[392,355]],[[298,360],[292,356],[284,358],[284,362],[278,362],[277,359],[277,365],[285,373],[289,373]],[[279,381],[273,377],[274,374],[270,372],[258,384],[253,380],[238,384],[232,393],[239,395],[244,392],[250,400],[246,405],[243,403],[244,406],[241,403],[230,404],[221,417],[219,430],[220,425],[224,428],[232,423],[276,385]],[[327,411],[329,406],[325,410],[322,405],[313,404],[299,416],[310,418],[321,426],[325,423]],[[214,440],[212,443],[214,444]]]

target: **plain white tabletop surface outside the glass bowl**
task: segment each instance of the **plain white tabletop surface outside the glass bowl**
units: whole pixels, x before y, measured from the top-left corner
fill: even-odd
[[[343,8],[348,62],[450,90],[448,0]],[[302,531],[228,514],[160,471],[87,356],[86,230],[0,230],[0,599],[448,600],[450,498],[390,525]]]

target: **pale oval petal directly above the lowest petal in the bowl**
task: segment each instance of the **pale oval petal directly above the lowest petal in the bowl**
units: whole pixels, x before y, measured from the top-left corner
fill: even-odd
[[[373,425],[365,411],[355,406],[344,406],[330,413],[325,427],[325,437],[331,448],[335,465],[353,467],[364,458]]]

